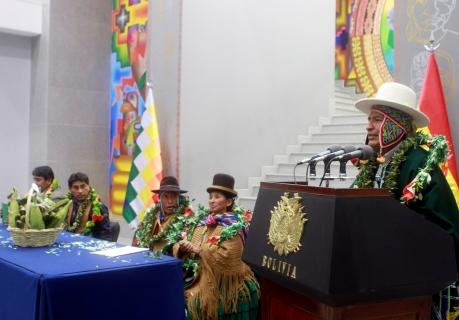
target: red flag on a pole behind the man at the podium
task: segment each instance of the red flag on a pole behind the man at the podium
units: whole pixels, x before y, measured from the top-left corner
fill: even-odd
[[[429,53],[427,69],[424,76],[424,84],[419,98],[419,110],[430,118],[429,131],[433,135],[446,137],[450,148],[450,158],[445,168],[446,179],[453,190],[456,202],[459,201],[459,190],[457,187],[456,154],[454,151],[453,139],[448,120],[445,96],[441,84],[440,72],[438,70],[435,53]]]

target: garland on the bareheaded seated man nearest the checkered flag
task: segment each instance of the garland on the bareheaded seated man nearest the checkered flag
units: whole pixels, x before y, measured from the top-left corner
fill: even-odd
[[[72,194],[70,192],[67,193],[67,199],[73,200]],[[104,220],[104,216],[102,215],[102,202],[100,202],[99,195],[96,193],[96,189],[91,188],[89,191],[88,196],[86,199],[80,203],[80,206],[78,207],[78,211],[76,214],[75,221],[72,223],[72,225],[65,225],[65,230],[70,231],[70,232],[75,232],[80,228],[81,225],[81,218],[86,212],[86,209],[88,206],[91,207],[92,211],[92,217],[91,220],[86,222],[86,225],[84,226],[83,234],[85,235],[90,235],[92,234],[92,229],[96,226],[96,222],[100,222]]]

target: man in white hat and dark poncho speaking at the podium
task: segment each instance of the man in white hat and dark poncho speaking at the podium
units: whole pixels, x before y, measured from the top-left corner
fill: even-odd
[[[355,107],[368,115],[367,144],[378,156],[360,161],[353,186],[387,188],[402,204],[445,229],[455,240],[459,266],[459,211],[440,169],[447,158],[448,143],[442,136],[431,137],[416,131],[426,127],[429,118],[416,110],[415,92],[389,82],[379,88],[374,98],[361,99]],[[435,298],[434,313],[438,319],[458,312],[457,296],[453,285]],[[439,310],[442,305],[443,310]]]

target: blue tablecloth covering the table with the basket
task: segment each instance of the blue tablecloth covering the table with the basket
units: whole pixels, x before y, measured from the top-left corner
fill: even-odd
[[[183,319],[181,262],[90,254],[116,246],[62,232],[53,246],[21,248],[0,225],[0,319]]]

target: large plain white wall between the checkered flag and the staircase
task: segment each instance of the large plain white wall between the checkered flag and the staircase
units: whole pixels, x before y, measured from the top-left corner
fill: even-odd
[[[183,1],[180,180],[206,202],[213,174],[244,188],[328,112],[335,1]]]

